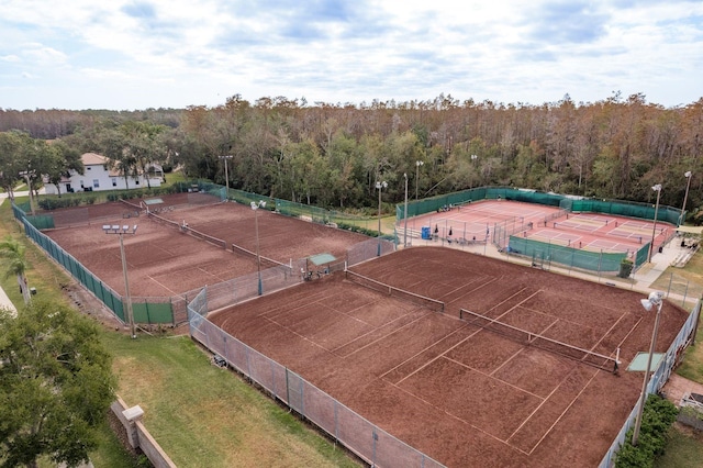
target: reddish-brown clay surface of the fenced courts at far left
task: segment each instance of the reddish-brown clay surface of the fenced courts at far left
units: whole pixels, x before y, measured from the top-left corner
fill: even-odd
[[[158,214],[256,252],[255,213],[248,205],[212,204],[207,194],[159,196],[164,203],[150,205]],[[210,203],[192,205],[188,203]],[[130,200],[138,205],[140,200]],[[165,209],[174,207],[171,210]],[[44,231],[66,252],[118,293],[124,293],[124,279],[116,235],[102,231],[103,224],[137,224],[135,235],[125,235],[124,246],[130,275],[130,292],[141,297],[170,297],[257,271],[256,257],[233,253],[178,227],[154,221],[123,202],[55,211],[57,227]],[[326,227],[293,218],[258,210],[259,252],[263,257],[283,264],[291,259],[328,253],[344,260],[352,245],[367,241],[361,234]],[[126,216],[130,218],[126,218]],[[89,224],[88,224],[89,223]],[[267,261],[261,268],[270,267]]]

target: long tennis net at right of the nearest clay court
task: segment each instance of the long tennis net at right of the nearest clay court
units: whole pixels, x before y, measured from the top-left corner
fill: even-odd
[[[599,369],[612,372],[617,371],[620,361],[616,358],[594,353],[589,349],[583,349],[578,346],[569,345],[554,338],[548,338],[546,336],[539,335],[538,333],[528,332],[517,326],[499,322],[495,319],[491,319],[466,309],[459,309],[459,319],[464,320],[467,323],[470,323],[471,325],[480,326],[481,328],[488,330],[499,335],[503,335],[523,345],[535,346],[537,348],[557,354],[559,356],[568,357],[580,363],[588,364],[589,366],[598,367]]]

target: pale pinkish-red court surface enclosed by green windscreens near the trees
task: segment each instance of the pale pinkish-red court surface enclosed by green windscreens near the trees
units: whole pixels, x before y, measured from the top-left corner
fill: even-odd
[[[559,214],[556,207],[525,203],[507,200],[484,200],[449,211],[433,212],[408,220],[408,229],[420,236],[422,226],[429,226],[431,232],[437,230],[440,238],[447,238],[449,230],[454,239],[464,238],[470,242],[486,239],[487,229],[492,236],[495,223],[516,219],[515,225],[532,227],[520,233],[526,238],[555,245],[581,248],[591,252],[636,252],[651,241],[654,223],[646,220],[615,216],[604,213],[569,213]],[[549,220],[545,223],[545,219]],[[511,223],[510,226],[513,224]],[[672,226],[658,222],[655,245],[662,243],[671,233]],[[398,225],[399,232],[404,222]],[[489,237],[490,239],[490,237]]]

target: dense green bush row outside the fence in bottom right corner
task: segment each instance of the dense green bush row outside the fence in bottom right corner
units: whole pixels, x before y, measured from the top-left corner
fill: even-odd
[[[627,431],[625,444],[615,456],[615,468],[652,467],[655,458],[663,455],[669,430],[679,410],[670,401],[650,394],[645,403],[637,446],[632,445],[634,427]]]

